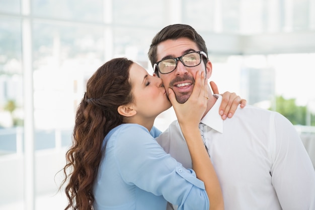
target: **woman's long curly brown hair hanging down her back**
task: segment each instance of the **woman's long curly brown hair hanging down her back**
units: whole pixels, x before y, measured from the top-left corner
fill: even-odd
[[[66,209],[93,209],[93,185],[105,151],[103,139],[114,127],[123,123],[117,108],[132,102],[129,68],[133,61],[114,58],[93,74],[87,91],[77,108],[72,146],[66,153],[62,169],[68,199]]]

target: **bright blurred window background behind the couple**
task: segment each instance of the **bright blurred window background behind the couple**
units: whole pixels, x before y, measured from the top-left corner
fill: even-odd
[[[296,39],[313,37],[314,14],[315,0],[0,0],[0,208],[29,210],[23,176],[28,167],[23,161],[26,114],[34,117],[34,209],[47,209],[49,197],[57,200],[51,209],[64,207],[65,198],[57,193],[61,176],[55,174],[71,144],[87,80],[118,56],[152,73],[150,41],[173,23],[192,25],[205,38],[211,80],[221,93],[236,92],[248,104],[287,114],[315,157],[315,137],[309,134],[315,134],[315,43]],[[26,20],[31,34],[27,45]],[[281,45],[283,39],[293,41]],[[24,83],[26,62],[32,84]],[[33,90],[32,99],[25,97],[25,87]],[[33,113],[25,113],[26,104],[33,104]],[[295,115],[283,104],[290,104]],[[174,119],[171,108],[155,125],[164,130]]]

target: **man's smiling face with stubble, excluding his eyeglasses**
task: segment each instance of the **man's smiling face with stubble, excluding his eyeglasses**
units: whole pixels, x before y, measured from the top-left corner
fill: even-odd
[[[157,45],[157,61],[170,57],[179,57],[192,51],[199,51],[199,49],[190,39],[169,39]],[[201,61],[199,65],[194,67],[187,67],[181,61],[178,61],[177,67],[173,72],[169,74],[159,74],[159,76],[163,81],[165,89],[173,89],[176,100],[179,103],[185,103],[193,91],[197,71],[205,71],[205,69],[207,78],[209,78],[211,76],[210,61],[208,61],[206,65]]]

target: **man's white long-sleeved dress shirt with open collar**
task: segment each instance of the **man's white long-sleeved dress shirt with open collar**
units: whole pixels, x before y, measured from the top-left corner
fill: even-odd
[[[314,210],[315,171],[294,126],[277,112],[247,105],[218,114],[221,96],[201,120],[225,210]],[[156,138],[186,168],[191,157],[178,121]],[[211,205],[211,203],[210,203]]]

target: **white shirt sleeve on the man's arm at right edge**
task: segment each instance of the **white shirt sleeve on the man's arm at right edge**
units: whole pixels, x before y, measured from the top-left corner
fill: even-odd
[[[275,113],[271,129],[272,184],[282,209],[315,209],[315,172],[298,133],[279,113]]]

